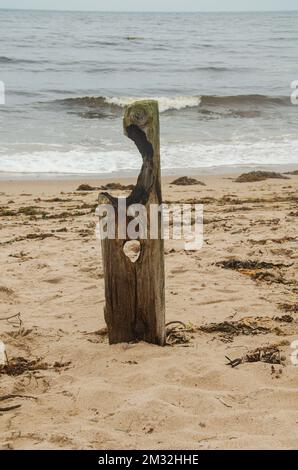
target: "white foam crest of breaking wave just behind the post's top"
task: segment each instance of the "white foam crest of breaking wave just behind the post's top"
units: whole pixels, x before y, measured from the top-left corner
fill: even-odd
[[[180,110],[184,108],[195,108],[200,105],[200,96],[151,96],[151,97],[135,97],[135,96],[119,96],[105,97],[105,102],[123,108],[136,100],[157,100],[159,111],[161,113],[171,109]]]

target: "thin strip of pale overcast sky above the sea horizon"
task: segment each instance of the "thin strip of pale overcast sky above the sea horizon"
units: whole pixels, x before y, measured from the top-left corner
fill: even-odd
[[[101,11],[297,10],[297,0],[0,0],[0,8]]]

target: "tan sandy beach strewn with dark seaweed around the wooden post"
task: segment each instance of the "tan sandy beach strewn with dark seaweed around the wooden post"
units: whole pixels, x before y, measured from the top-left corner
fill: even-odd
[[[167,321],[200,326],[284,315],[279,304],[297,305],[298,297],[298,176],[242,184],[227,175],[199,179],[206,186],[163,180],[165,200],[205,202],[203,249],[166,243]],[[292,323],[278,322],[268,334],[198,331],[189,345],[109,346],[95,333],[104,327],[92,212],[98,192],[75,192],[81,182],[90,183],[0,183],[0,339],[10,360],[49,365],[0,375],[0,400],[21,395],[0,401],[0,447],[297,449],[298,366],[289,345],[298,339],[297,311]],[[36,209],[18,212],[30,206]],[[231,258],[292,265],[254,280],[251,272],[215,265]],[[3,320],[19,312],[21,327],[17,318]],[[226,365],[225,356],[272,343],[282,344],[285,366]],[[3,411],[14,405],[21,406]]]

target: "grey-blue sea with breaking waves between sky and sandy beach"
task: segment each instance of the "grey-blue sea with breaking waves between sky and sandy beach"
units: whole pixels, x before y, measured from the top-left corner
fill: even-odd
[[[297,168],[297,51],[298,12],[0,10],[0,174],[138,173],[141,98],[164,174]]]

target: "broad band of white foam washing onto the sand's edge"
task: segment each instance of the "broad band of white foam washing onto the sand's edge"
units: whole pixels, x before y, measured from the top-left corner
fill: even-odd
[[[298,164],[298,140],[255,143],[169,144],[161,150],[164,170],[210,168],[231,165]],[[130,150],[84,149],[66,152],[56,149],[15,154],[0,154],[0,172],[109,174],[139,171],[142,161]]]

